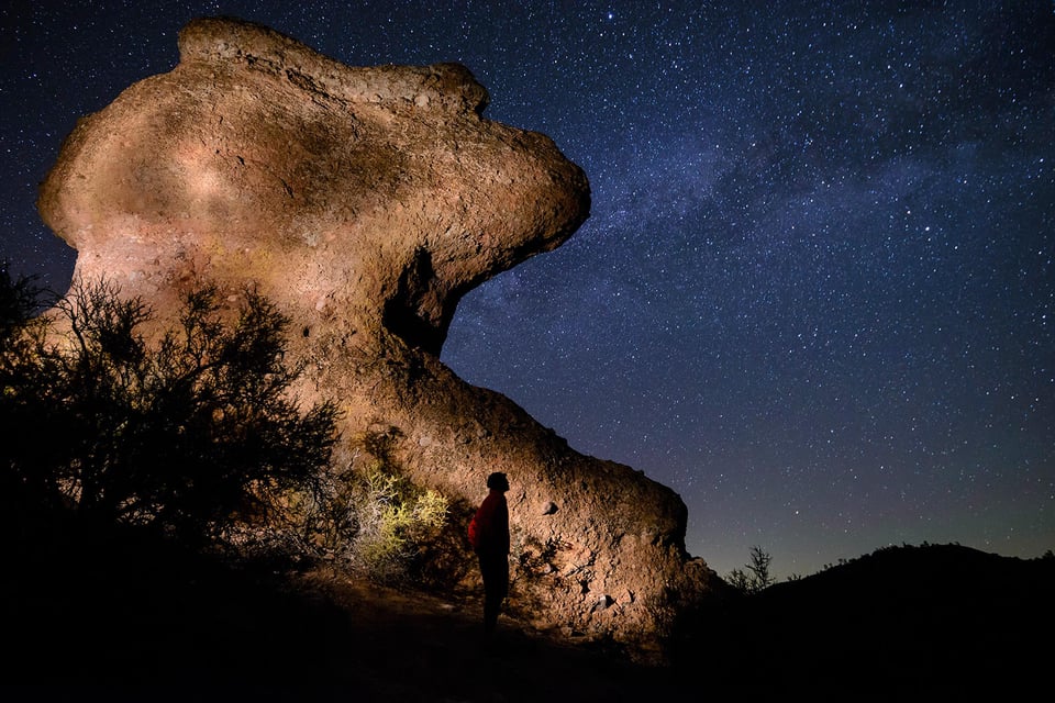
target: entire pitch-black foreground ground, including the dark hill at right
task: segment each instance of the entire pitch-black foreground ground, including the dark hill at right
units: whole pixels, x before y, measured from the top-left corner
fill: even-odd
[[[52,545],[4,577],[10,701],[1019,700],[1050,690],[1055,559],[884,550],[687,616],[662,667],[479,602],[163,547]]]

